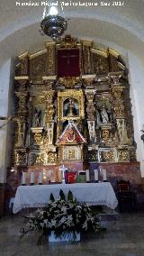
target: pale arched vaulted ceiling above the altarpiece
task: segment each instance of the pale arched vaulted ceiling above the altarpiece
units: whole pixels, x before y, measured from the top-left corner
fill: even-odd
[[[100,4],[107,1],[89,2]],[[17,2],[22,4],[30,1]],[[47,36],[41,36],[39,32],[43,12],[42,1],[31,0],[31,3],[33,2],[39,3],[39,6],[15,6],[15,0],[0,0],[1,64],[5,59],[15,58],[24,51],[40,50],[44,48],[44,42],[50,40]],[[73,2],[76,1],[71,1]],[[115,48],[125,57],[130,50],[144,62],[144,1],[125,0],[123,7],[112,6],[114,1],[111,0],[108,2],[111,6],[65,7],[64,16],[70,19],[67,33],[79,39],[93,40],[98,47]]]

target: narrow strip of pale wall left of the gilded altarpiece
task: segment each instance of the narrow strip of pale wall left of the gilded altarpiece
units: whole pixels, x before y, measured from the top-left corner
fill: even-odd
[[[9,87],[11,81],[11,59],[5,61],[3,67],[0,69],[0,116],[9,116]],[[12,84],[14,81],[12,80]],[[6,120],[0,121],[0,126],[7,123]],[[9,150],[7,148],[7,136],[8,131],[7,125],[0,129],[0,216],[3,215],[4,210],[4,187],[6,183],[6,167],[7,160],[10,159]],[[9,133],[10,134],[10,133]],[[10,142],[10,141],[9,141]],[[11,142],[8,143],[11,146]],[[6,160],[7,158],[7,160]]]

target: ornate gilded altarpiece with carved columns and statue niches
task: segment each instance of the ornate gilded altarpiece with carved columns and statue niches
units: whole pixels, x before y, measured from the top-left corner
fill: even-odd
[[[58,50],[65,50],[64,70],[73,70],[68,77],[58,76]],[[79,161],[83,168],[135,160],[129,87],[120,55],[96,49],[93,41],[68,35],[19,56],[12,165],[44,169]]]

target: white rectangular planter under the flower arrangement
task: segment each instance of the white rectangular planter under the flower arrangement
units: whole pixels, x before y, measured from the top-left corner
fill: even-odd
[[[80,241],[80,233],[77,233],[77,232],[63,233],[60,236],[56,236],[54,231],[52,231],[49,234],[49,242],[79,242],[79,241]]]

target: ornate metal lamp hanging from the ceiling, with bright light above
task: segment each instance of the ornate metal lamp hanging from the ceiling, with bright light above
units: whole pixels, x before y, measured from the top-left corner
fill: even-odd
[[[40,33],[46,34],[56,41],[67,30],[67,21],[58,15],[58,8],[51,6],[48,10],[44,8],[43,17],[40,22]]]

